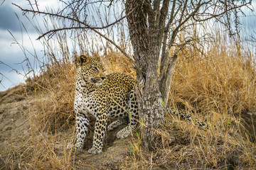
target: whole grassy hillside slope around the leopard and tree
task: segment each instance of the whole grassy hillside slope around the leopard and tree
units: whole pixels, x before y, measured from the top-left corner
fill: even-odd
[[[141,145],[142,130],[118,140],[119,127],[107,132],[103,152],[91,155],[92,119],[82,152],[68,150],[75,138],[75,64],[57,62],[0,92],[0,169],[256,169],[254,58],[218,43],[207,57],[200,54],[178,57],[169,101],[208,128],[166,113],[153,151]],[[101,59],[107,74],[134,76],[118,52]]]

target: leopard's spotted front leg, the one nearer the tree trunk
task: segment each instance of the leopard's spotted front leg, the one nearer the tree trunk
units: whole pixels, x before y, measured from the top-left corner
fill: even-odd
[[[103,140],[107,129],[107,115],[106,113],[98,114],[95,123],[95,132],[93,136],[92,148],[88,150],[90,154],[99,154],[102,152]]]

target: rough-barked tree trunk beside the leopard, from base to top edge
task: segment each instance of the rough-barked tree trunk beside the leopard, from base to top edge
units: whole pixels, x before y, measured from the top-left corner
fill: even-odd
[[[125,7],[134,60],[138,64],[137,96],[139,115],[143,120],[142,143],[144,147],[152,149],[156,144],[156,130],[164,123],[164,106],[157,72],[161,43],[159,32],[156,31],[157,21],[154,21],[154,15],[148,15],[150,4],[143,2],[127,0]]]

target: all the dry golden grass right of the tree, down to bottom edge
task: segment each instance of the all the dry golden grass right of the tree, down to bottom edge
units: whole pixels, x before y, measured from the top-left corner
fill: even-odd
[[[142,160],[144,169],[154,165],[164,169],[256,168],[255,130],[253,124],[245,129],[241,121],[248,111],[255,112],[255,58],[250,51],[241,52],[223,38],[210,44],[203,55],[185,49],[179,54],[171,90],[173,108],[186,108],[209,126],[201,129],[167,114],[159,130],[162,146],[151,159],[142,156],[139,139],[133,141],[137,162],[132,169],[140,169],[137,164]]]

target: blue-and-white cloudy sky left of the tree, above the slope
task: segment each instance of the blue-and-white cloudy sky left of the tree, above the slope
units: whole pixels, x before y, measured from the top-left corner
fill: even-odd
[[[30,8],[28,1],[26,0],[15,1],[14,3],[22,8]],[[46,7],[57,9],[59,4],[62,3],[60,3],[58,0],[39,0],[38,8],[41,11],[45,11]],[[37,70],[34,61],[35,59],[33,58],[33,52],[36,52],[39,57],[43,57],[43,45],[39,40],[36,40],[36,38],[38,38],[38,33],[36,30],[34,30],[33,25],[28,21],[26,16],[22,15],[20,8],[11,4],[11,1],[5,1],[4,4],[0,6],[0,11],[2,11],[0,13],[0,18],[4,18],[5,21],[10,21],[8,22],[10,23],[8,26],[4,25],[6,22],[1,23],[0,21],[0,61],[18,70],[18,72],[23,73],[23,69],[25,69],[26,72],[26,70],[28,70],[28,66],[26,65],[26,62],[23,62],[26,59],[23,51],[21,50],[21,47],[23,47],[24,49],[28,50],[26,55],[28,59],[31,60],[31,67],[34,67],[33,69]],[[18,18],[24,24],[24,26],[26,26],[28,33],[21,28],[15,13],[18,15]],[[32,16],[32,13],[28,14],[28,18],[32,18]],[[44,27],[42,16],[38,16],[38,23],[36,25],[41,28]],[[23,30],[23,33],[21,33],[21,29]],[[11,34],[16,40],[14,40],[8,30],[11,30]],[[16,43],[16,41],[21,45],[21,47]],[[55,42],[53,41],[53,43]],[[32,52],[32,55],[29,54],[29,52]],[[18,64],[21,62],[22,64]],[[5,64],[0,64],[0,73],[4,74],[4,76],[0,75],[0,81],[6,89],[17,85],[20,82],[24,82],[24,78],[20,74],[16,74],[15,71],[11,71],[11,68]],[[11,83],[11,81],[9,81],[6,77],[14,82],[14,84]],[[1,84],[0,91],[6,90]]]

